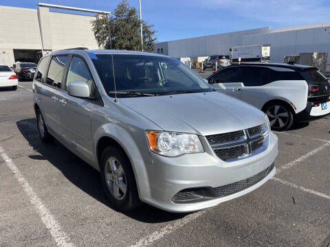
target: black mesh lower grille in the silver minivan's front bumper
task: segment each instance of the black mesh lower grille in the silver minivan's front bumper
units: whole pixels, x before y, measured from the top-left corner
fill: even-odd
[[[232,183],[230,185],[223,185],[214,188],[214,191],[216,191],[219,197],[221,197],[239,192],[243,189],[247,189],[248,187],[251,187],[252,185],[255,185],[259,181],[263,180],[263,178],[265,178],[265,176],[267,176],[272,171],[273,168],[274,168],[274,164],[272,164],[270,167],[267,167],[262,172],[259,172],[259,174],[251,176],[250,178],[243,179],[239,182]]]

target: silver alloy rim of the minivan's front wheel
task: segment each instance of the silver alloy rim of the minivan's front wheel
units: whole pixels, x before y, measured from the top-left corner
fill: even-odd
[[[104,165],[104,176],[111,196],[122,200],[126,195],[127,183],[122,165],[115,157],[108,158]]]

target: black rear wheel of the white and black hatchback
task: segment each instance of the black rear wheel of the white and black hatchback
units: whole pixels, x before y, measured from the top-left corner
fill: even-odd
[[[287,104],[281,102],[268,104],[264,112],[270,119],[272,130],[287,130],[294,122],[294,115]]]

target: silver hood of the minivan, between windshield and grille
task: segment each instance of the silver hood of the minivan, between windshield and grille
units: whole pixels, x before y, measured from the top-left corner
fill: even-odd
[[[265,122],[261,110],[218,92],[127,97],[120,103],[167,131],[221,134]]]

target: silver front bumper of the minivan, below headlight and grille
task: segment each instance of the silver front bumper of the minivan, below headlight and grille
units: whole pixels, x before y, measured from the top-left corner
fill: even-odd
[[[186,154],[175,158],[152,153],[153,164],[148,165],[150,193],[141,200],[170,212],[199,211],[253,191],[272,178],[276,172],[276,168],[271,166],[278,154],[278,146],[277,137],[272,132],[270,132],[270,145],[268,145],[267,150],[250,158],[225,162],[215,156],[212,151],[209,151],[206,150],[200,154]],[[191,188],[223,187],[247,180],[247,178],[263,172],[268,167],[271,167],[270,171],[261,180],[235,193],[188,203],[176,203],[173,200],[179,191]]]

